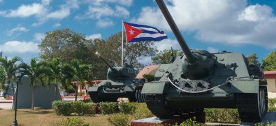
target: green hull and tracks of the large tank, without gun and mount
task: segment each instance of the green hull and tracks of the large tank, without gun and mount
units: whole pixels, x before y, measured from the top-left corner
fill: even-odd
[[[240,53],[214,55],[215,70],[206,78],[184,78],[183,57],[177,56],[159,81],[145,83],[141,93],[146,94],[150,111],[159,118],[172,118],[175,114],[203,112],[204,108],[237,108],[244,122],[262,120],[267,112],[266,80],[249,74],[252,72]]]

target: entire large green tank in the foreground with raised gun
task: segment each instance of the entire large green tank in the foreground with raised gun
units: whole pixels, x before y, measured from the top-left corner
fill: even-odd
[[[268,109],[262,69],[242,53],[190,50],[164,1],[156,0],[181,50],[158,81],[145,83],[148,109],[159,118],[201,113],[204,108],[237,108],[242,122],[259,122]]]

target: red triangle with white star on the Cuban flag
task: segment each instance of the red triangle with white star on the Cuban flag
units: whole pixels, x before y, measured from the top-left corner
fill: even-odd
[[[135,36],[138,36],[139,34],[144,32],[143,30],[139,30],[137,28],[134,28],[134,27],[128,25],[127,23],[125,23],[125,22],[124,22],[124,25],[125,25],[125,29],[126,29],[126,42],[127,43],[129,41],[131,41],[133,38],[135,38]]]

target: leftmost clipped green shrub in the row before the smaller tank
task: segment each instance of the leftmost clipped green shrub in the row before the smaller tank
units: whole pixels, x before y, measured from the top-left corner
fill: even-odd
[[[52,108],[55,110],[57,115],[69,116],[75,111],[71,101],[53,101]]]

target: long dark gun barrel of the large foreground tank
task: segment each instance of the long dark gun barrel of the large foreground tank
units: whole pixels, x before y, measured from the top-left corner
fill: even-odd
[[[190,51],[190,48],[188,48],[186,41],[184,40],[183,36],[179,32],[179,29],[177,28],[175,21],[172,19],[172,16],[170,15],[170,12],[168,11],[168,8],[166,7],[164,1],[163,0],[155,0],[155,1],[159,6],[161,12],[163,13],[166,21],[168,22],[168,25],[170,25],[170,29],[172,30],[173,34],[175,34],[175,37],[177,38],[177,41],[181,46],[181,49],[186,55],[186,59],[188,63],[194,63],[196,58],[193,55],[193,53]]]

